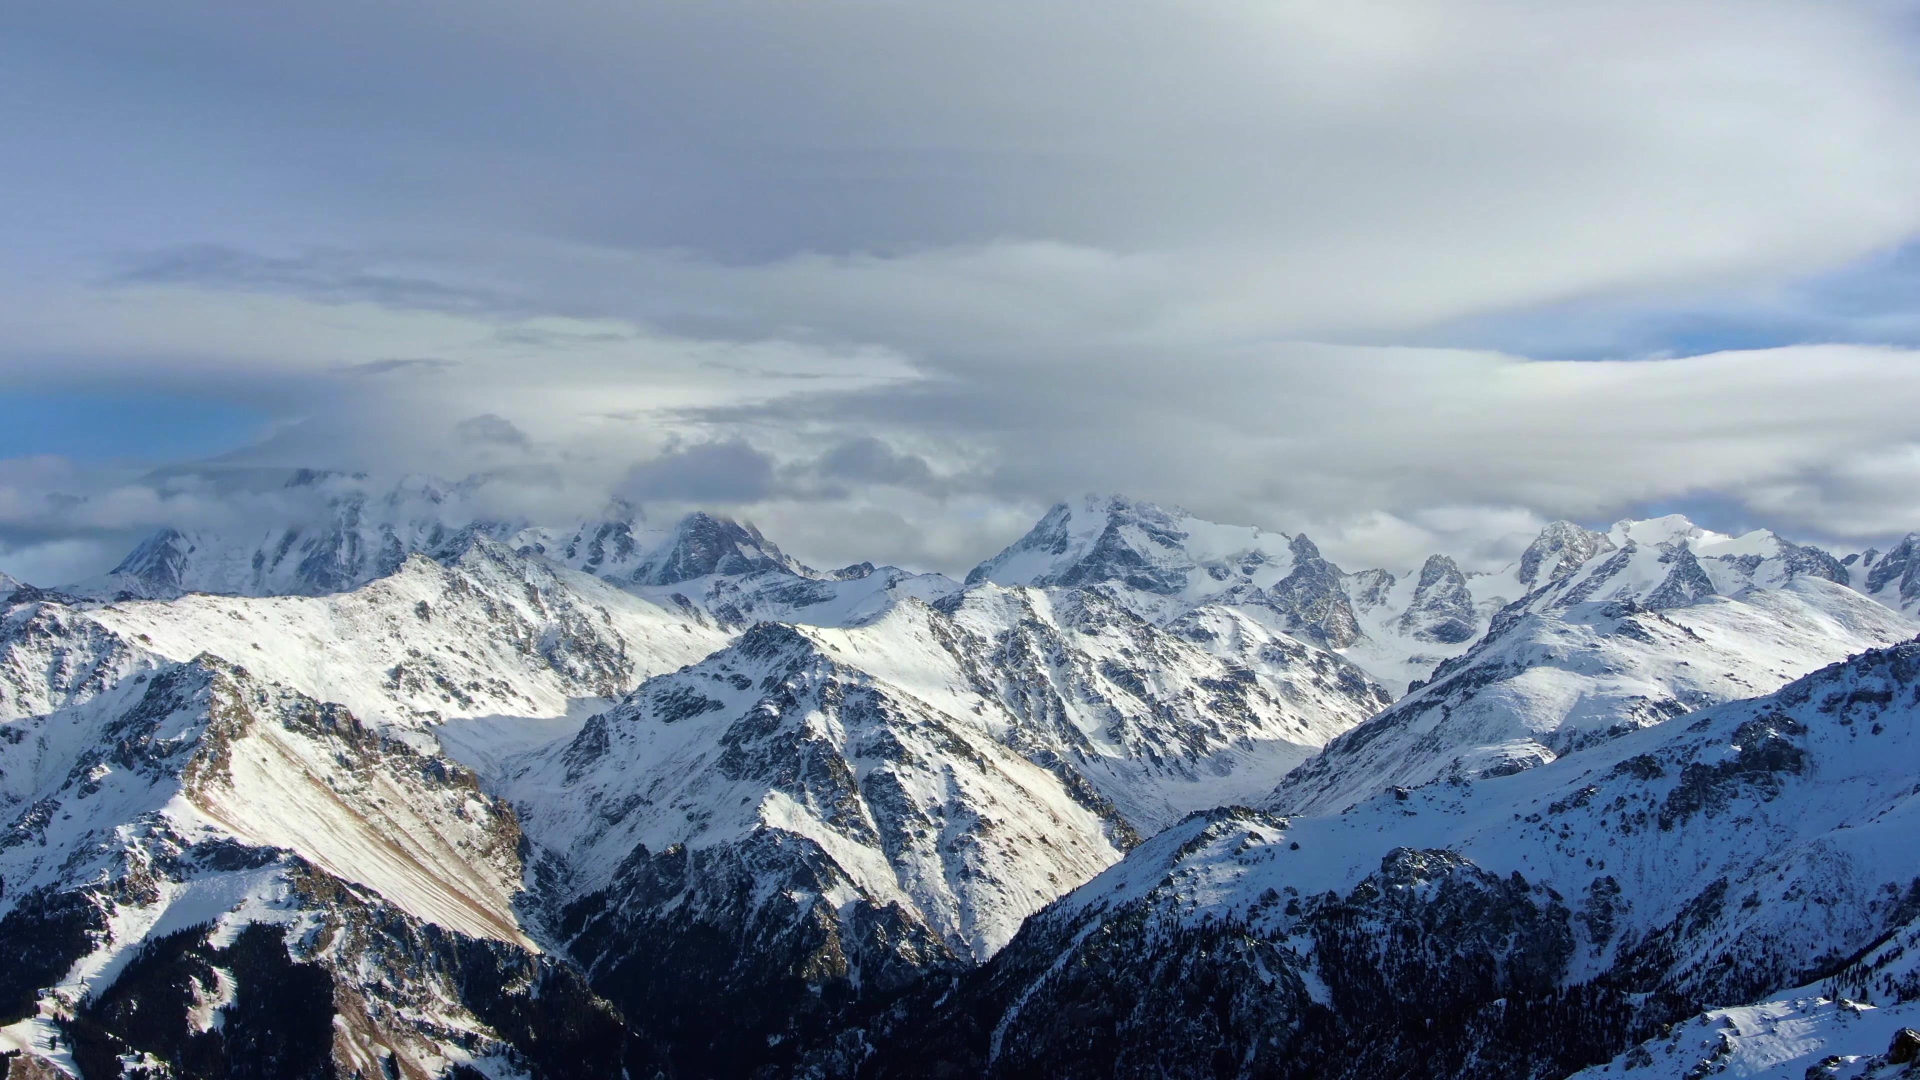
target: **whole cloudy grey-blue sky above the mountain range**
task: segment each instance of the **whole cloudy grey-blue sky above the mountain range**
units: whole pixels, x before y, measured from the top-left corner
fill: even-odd
[[[1920,528],[1907,0],[0,15],[0,571],[248,467],[964,571],[1117,490],[1348,567]]]

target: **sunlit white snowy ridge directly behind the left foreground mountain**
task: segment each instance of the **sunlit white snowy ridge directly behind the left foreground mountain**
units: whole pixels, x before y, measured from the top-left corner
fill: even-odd
[[[177,661],[215,653],[397,728],[478,719],[564,724],[566,717],[578,726],[597,703],[728,640],[674,607],[490,540],[474,540],[445,565],[409,555],[394,575],[353,592],[48,600],[17,605],[8,619],[21,623],[19,634],[38,634],[44,655],[10,655],[25,667],[12,676],[0,669],[0,703],[35,694],[46,682],[40,665],[56,663],[75,638],[109,634]],[[19,713],[31,701],[12,707]]]

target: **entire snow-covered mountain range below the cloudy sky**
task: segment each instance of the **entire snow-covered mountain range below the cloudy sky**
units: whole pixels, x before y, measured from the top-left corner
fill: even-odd
[[[0,598],[15,1063],[1546,1078],[1905,1015],[1916,540],[1348,573],[1089,496],[958,582],[290,486]]]

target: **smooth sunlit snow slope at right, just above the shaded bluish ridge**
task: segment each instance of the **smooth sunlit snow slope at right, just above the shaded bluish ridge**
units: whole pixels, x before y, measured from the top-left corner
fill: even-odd
[[[1684,548],[1628,544],[1501,611],[1473,651],[1329,744],[1269,803],[1329,813],[1390,786],[1530,769],[1916,630],[1818,577],[1718,596]]]

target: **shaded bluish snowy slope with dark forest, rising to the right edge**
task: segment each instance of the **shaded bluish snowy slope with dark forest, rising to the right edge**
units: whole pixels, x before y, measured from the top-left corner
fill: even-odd
[[[1548,1078],[1828,976],[1899,1003],[1916,771],[1903,644],[1511,776],[1194,815],[876,1022],[864,1072]]]

